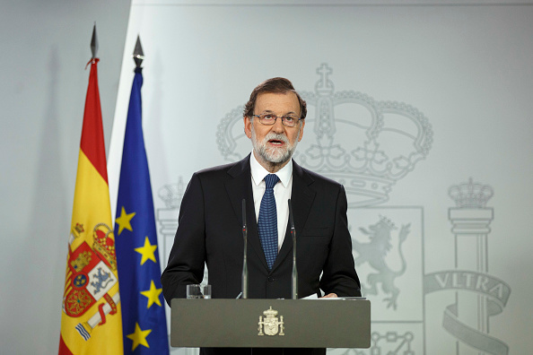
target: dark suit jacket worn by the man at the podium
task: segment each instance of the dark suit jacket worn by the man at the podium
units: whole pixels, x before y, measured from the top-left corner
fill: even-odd
[[[271,271],[258,237],[249,156],[199,171],[179,210],[179,227],[162,273],[163,294],[185,298],[186,285],[200,283],[207,264],[214,299],[234,299],[241,290],[242,199],[247,201],[250,299],[291,299],[293,238],[290,228]],[[348,232],[345,189],[293,162],[293,219],[297,236],[298,296],[361,296]],[[322,277],[320,278],[320,273]]]

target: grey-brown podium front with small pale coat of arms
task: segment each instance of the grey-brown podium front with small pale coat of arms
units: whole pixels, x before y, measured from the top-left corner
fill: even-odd
[[[370,348],[366,299],[172,299],[170,345]]]

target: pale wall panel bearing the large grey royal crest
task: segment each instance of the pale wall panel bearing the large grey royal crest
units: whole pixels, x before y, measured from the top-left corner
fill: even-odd
[[[310,103],[295,159],[348,192],[373,351],[533,348],[531,2],[134,1],[112,202],[137,34],[165,264],[191,174],[249,152],[240,108],[284,76]]]

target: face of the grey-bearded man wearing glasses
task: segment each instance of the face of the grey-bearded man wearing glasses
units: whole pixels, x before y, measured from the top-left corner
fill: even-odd
[[[256,99],[254,114],[264,113],[278,117],[274,125],[263,125],[258,117],[252,117],[251,120],[249,117],[244,117],[244,132],[251,139],[254,155],[261,165],[265,168],[273,164],[283,167],[293,156],[297,143],[301,141],[305,120],[300,120],[296,126],[287,127],[282,124],[281,117],[285,115],[300,117],[300,102],[296,94],[291,91],[261,93]]]

